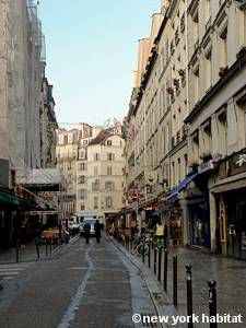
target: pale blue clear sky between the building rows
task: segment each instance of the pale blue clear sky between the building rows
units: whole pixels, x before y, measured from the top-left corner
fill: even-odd
[[[138,40],[161,0],[39,0],[46,77],[58,122],[104,125],[128,113]]]

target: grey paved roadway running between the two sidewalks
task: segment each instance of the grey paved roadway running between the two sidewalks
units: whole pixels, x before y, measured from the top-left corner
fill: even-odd
[[[154,314],[139,271],[106,239],[79,238],[49,260],[1,265],[0,276],[9,278],[1,328],[133,327],[132,314]]]

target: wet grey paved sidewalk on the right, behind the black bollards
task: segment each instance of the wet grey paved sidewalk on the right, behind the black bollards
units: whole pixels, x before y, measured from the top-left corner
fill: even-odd
[[[173,256],[177,256],[178,262],[178,306],[179,315],[187,315],[186,293],[186,269],[185,266],[192,266],[192,303],[194,313],[201,318],[201,315],[209,315],[209,288],[208,281],[216,281],[218,313],[243,316],[243,324],[219,324],[218,327],[246,327],[246,262],[223,256],[211,255],[200,249],[174,247],[168,251],[167,271],[167,296],[173,300]],[[136,256],[137,257],[137,256]],[[157,257],[159,258],[159,257]],[[142,262],[141,256],[138,260]],[[148,257],[145,257],[148,266]],[[151,250],[151,269],[154,268],[154,250]],[[161,288],[164,277],[164,253],[162,253]],[[156,266],[157,272],[157,266]],[[156,273],[157,274],[157,273]],[[209,324],[195,324],[194,327],[208,328]]]

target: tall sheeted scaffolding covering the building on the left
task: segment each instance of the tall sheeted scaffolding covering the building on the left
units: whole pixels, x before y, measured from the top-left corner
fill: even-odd
[[[16,178],[40,167],[45,38],[33,0],[0,1],[0,153]]]

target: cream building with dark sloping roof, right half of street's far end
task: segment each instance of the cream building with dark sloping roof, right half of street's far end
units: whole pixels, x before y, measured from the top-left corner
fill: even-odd
[[[102,130],[87,147],[85,210],[106,219],[122,208],[125,141],[121,125]]]

